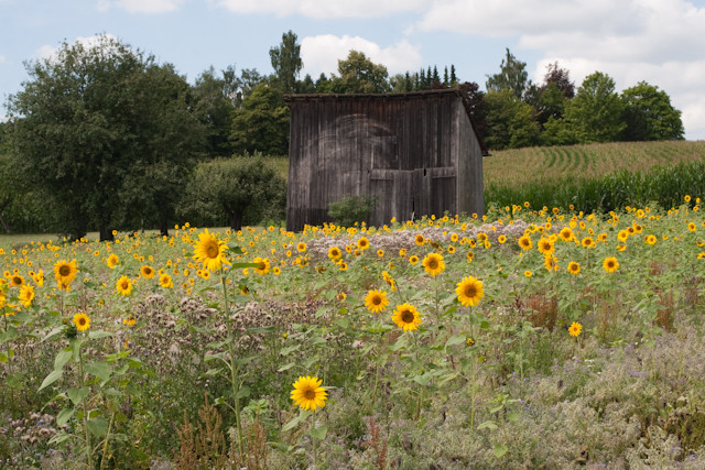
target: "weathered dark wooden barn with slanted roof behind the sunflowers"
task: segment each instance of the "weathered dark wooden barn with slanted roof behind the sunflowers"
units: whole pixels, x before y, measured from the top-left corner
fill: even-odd
[[[328,205],[368,195],[367,222],[482,214],[482,155],[455,89],[386,95],[288,95],[286,229],[330,221]]]

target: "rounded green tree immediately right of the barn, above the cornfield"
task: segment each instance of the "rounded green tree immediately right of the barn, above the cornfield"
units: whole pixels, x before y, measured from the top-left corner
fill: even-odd
[[[489,149],[516,149],[539,142],[539,123],[535,109],[521,101],[508,88],[485,95],[487,133],[484,136]]]

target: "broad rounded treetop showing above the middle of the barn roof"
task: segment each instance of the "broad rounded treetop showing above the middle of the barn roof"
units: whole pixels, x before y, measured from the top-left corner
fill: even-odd
[[[391,88],[387,67],[372,63],[359,51],[350,51],[345,61],[338,61],[338,74],[333,78],[333,92],[382,94]]]

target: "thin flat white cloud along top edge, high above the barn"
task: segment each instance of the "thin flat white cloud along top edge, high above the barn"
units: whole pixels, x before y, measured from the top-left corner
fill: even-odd
[[[279,17],[301,14],[326,18],[380,18],[392,13],[421,10],[423,0],[220,0],[219,6],[235,13],[273,13]]]

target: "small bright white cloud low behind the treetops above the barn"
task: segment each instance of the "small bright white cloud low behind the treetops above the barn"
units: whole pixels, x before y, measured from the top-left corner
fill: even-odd
[[[301,41],[303,73],[311,74],[314,79],[321,73],[337,73],[338,59],[345,59],[350,50],[364,52],[373,63],[383,64],[390,75],[413,70],[422,65],[419,48],[405,40],[382,48],[360,36],[338,37],[324,34],[304,37]]]

